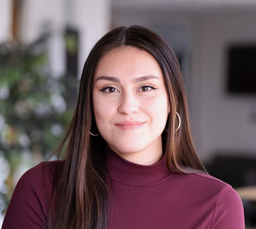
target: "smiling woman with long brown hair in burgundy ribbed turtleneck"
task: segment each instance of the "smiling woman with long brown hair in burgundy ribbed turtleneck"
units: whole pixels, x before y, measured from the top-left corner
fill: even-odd
[[[177,58],[147,28],[95,44],[54,154],[20,178],[4,229],[244,228],[240,197],[196,154]]]

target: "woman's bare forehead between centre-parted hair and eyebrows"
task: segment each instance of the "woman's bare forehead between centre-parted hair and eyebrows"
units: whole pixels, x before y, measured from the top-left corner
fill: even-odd
[[[156,75],[163,78],[161,67],[153,55],[131,46],[118,47],[104,55],[95,70],[94,80],[100,75],[119,78]]]

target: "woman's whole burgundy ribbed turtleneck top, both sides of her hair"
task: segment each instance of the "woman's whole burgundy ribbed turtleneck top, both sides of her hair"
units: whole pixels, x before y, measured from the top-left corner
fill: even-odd
[[[200,173],[167,169],[165,155],[153,165],[129,162],[106,147],[108,229],[244,229],[244,209],[227,183]],[[45,228],[52,179],[41,162],[17,183],[2,229]]]

